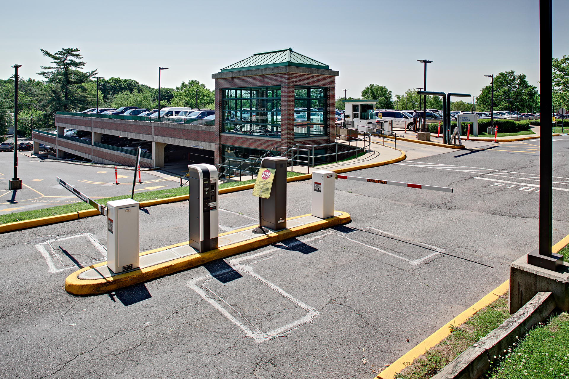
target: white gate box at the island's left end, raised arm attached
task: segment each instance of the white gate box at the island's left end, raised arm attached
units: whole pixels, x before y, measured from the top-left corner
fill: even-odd
[[[139,206],[133,199],[107,203],[107,266],[116,274],[139,267]]]

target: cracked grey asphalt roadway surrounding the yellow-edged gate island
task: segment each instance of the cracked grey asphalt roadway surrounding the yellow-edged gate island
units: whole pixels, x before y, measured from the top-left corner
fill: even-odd
[[[554,139],[554,186],[567,189],[569,137]],[[538,153],[491,146],[348,173],[453,194],[338,180],[350,224],[100,296],[63,286],[104,260],[85,237],[106,245],[104,218],[3,234],[0,377],[374,377],[535,248]],[[287,190],[288,216],[310,213],[310,182]],[[568,201],[553,191],[554,241],[569,233]],[[257,218],[251,191],[220,207],[220,231]],[[141,251],[187,240],[187,215],[187,202],[141,211]]]

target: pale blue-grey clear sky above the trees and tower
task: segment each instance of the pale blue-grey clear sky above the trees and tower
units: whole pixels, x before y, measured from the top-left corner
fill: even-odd
[[[212,73],[257,52],[292,48],[338,70],[336,97],[369,84],[470,93],[506,70],[539,81],[538,0],[2,2],[0,78],[41,78],[40,49],[81,50],[105,78],[214,88]],[[569,2],[553,0],[553,56],[569,55]],[[17,16],[10,16],[17,15]],[[564,15],[564,16],[563,16]]]

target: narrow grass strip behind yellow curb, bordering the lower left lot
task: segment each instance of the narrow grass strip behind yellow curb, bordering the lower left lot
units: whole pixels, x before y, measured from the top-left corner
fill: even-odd
[[[303,173],[299,172],[287,172],[287,177],[303,175]],[[219,188],[228,188],[234,186],[240,186],[244,184],[251,184],[254,183],[255,180],[246,180],[242,182],[229,182],[229,183],[222,183],[220,184]],[[145,200],[154,200],[154,199],[163,199],[167,197],[175,197],[175,196],[182,196],[188,194],[188,186],[183,187],[176,187],[170,189],[162,189],[162,190],[154,190],[154,191],[145,191],[145,192],[137,192],[134,194],[134,199],[136,201],[145,201]],[[120,196],[114,197],[105,197],[101,199],[97,199],[97,203],[105,204],[109,201],[113,200],[120,200],[130,198],[130,193]],[[55,207],[49,208],[42,208],[42,209],[34,209],[29,211],[22,211],[22,212],[14,212],[10,214],[0,215],[0,224],[7,224],[10,222],[17,222],[23,220],[32,220],[36,218],[48,217],[48,216],[55,216],[65,213],[73,213],[77,211],[82,211],[85,209],[93,209],[92,206],[87,205],[86,203],[80,201],[77,203],[72,204],[65,204],[65,205],[57,205]]]

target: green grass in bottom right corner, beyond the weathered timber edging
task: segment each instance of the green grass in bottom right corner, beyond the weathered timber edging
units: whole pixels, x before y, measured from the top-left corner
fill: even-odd
[[[499,359],[500,357],[498,357]],[[527,332],[518,345],[486,377],[567,378],[569,376],[569,314],[552,316]]]

